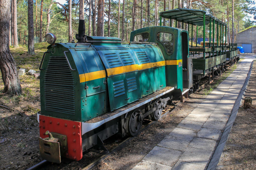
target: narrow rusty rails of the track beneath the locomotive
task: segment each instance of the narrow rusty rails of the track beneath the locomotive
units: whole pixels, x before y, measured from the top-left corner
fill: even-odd
[[[176,103],[175,105],[177,106],[180,102]],[[168,107],[168,105],[167,105]],[[170,107],[170,105],[169,105]],[[171,108],[168,108],[162,115],[160,118],[164,117],[165,115],[167,115],[168,113],[170,113],[173,109],[175,109],[175,106],[171,106]],[[146,124],[144,127],[142,127],[140,129],[141,133],[142,131],[146,130],[148,127],[150,127],[152,124],[154,124],[157,121],[151,121],[148,124]],[[134,136],[136,137],[136,136]],[[109,150],[109,153],[107,154],[102,154],[98,159],[92,161],[90,164],[88,164],[87,166],[85,166],[84,168],[82,168],[82,170],[89,170],[92,169],[94,166],[96,166],[101,160],[104,160],[108,155],[112,154],[113,152],[115,152],[116,150],[118,150],[120,147],[122,147],[124,144],[126,144],[127,142],[129,142],[130,140],[132,140],[134,137],[127,137],[126,139],[124,139],[121,143],[119,143],[117,146],[115,146],[114,148],[112,148],[111,150]],[[41,168],[44,165],[47,164],[51,164],[51,162],[48,162],[47,160],[43,160],[39,163],[37,163],[34,166],[29,167],[27,170],[36,170],[38,168]]]

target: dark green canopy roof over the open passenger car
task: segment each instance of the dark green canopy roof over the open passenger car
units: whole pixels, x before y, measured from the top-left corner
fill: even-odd
[[[169,11],[163,11],[160,12],[160,17],[174,19],[178,22],[184,22],[195,26],[204,26],[205,17],[205,25],[209,24],[210,20],[215,20],[216,24],[219,23],[220,25],[226,25],[224,22],[213,17],[211,14],[206,14],[206,11],[187,8],[176,8]]]

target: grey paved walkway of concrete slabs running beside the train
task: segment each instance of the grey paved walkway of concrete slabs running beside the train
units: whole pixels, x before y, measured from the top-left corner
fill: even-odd
[[[244,57],[236,70],[132,170],[215,169],[236,118],[237,111],[233,111],[239,108],[251,63],[252,57]]]

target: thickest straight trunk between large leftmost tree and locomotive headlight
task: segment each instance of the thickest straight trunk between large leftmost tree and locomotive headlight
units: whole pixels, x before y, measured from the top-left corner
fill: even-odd
[[[16,0],[14,0],[16,1]],[[33,0],[28,0],[28,54],[34,55]]]

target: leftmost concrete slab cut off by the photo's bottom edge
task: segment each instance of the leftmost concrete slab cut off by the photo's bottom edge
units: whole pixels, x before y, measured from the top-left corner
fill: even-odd
[[[132,170],[171,170],[172,167],[151,162],[148,160],[141,160]]]

